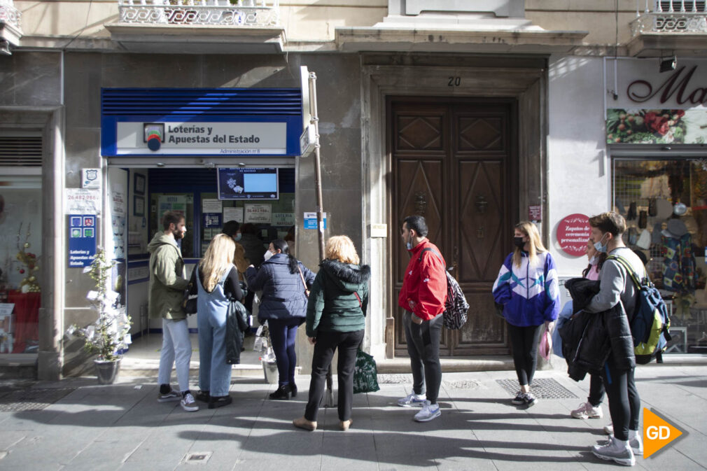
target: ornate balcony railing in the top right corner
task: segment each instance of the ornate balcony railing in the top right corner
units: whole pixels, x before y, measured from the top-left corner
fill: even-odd
[[[642,33],[707,33],[707,1],[636,0],[631,35]]]

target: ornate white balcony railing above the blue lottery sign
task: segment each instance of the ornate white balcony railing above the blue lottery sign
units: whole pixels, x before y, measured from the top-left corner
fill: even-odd
[[[118,0],[118,9],[120,23],[139,25],[280,25],[279,0]]]

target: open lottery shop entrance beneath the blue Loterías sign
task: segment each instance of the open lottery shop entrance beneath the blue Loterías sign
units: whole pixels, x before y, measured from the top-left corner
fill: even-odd
[[[112,164],[115,165],[115,164]],[[267,245],[276,238],[294,237],[295,169],[293,167],[240,166],[238,172],[268,169],[276,180],[276,192],[267,199],[220,199],[217,168],[122,168],[108,170],[105,214],[105,248],[115,261],[113,289],[119,302],[127,305],[132,318],[133,344],[128,358],[158,359],[161,321],[148,319],[148,243],[162,230],[165,211],[182,212],[187,233],[180,241],[187,277],[206,252],[211,238],[221,233],[224,223],[241,223],[246,259],[256,266]],[[260,171],[260,170],[258,170]],[[262,174],[262,172],[261,172]],[[251,260],[252,259],[252,260]],[[192,347],[196,352],[197,318],[189,317]],[[157,335],[151,335],[157,334]],[[245,352],[244,352],[245,353]],[[244,354],[242,363],[258,363],[258,354]],[[198,361],[198,354],[192,361]]]

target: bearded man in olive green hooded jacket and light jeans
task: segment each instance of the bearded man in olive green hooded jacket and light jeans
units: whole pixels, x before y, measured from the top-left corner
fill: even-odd
[[[150,252],[150,318],[162,319],[162,349],[158,382],[158,402],[181,401],[187,412],[199,410],[189,392],[189,361],[192,341],[189,339],[187,315],[182,308],[184,291],[189,281],[182,250],[177,240],[187,233],[185,219],[175,211],[166,211],[162,218],[163,231],[155,234],[147,246]],[[179,391],[170,386],[172,366],[177,366]]]

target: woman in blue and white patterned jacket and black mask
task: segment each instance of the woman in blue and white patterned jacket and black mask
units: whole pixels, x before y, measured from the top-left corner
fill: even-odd
[[[543,332],[557,318],[560,294],[555,262],[542,245],[535,225],[522,221],[515,225],[515,250],[503,262],[493,284],[493,298],[503,305],[508,337],[513,347],[513,363],[520,391],[514,405],[531,407],[537,403],[530,383],[537,366],[537,346]]]

